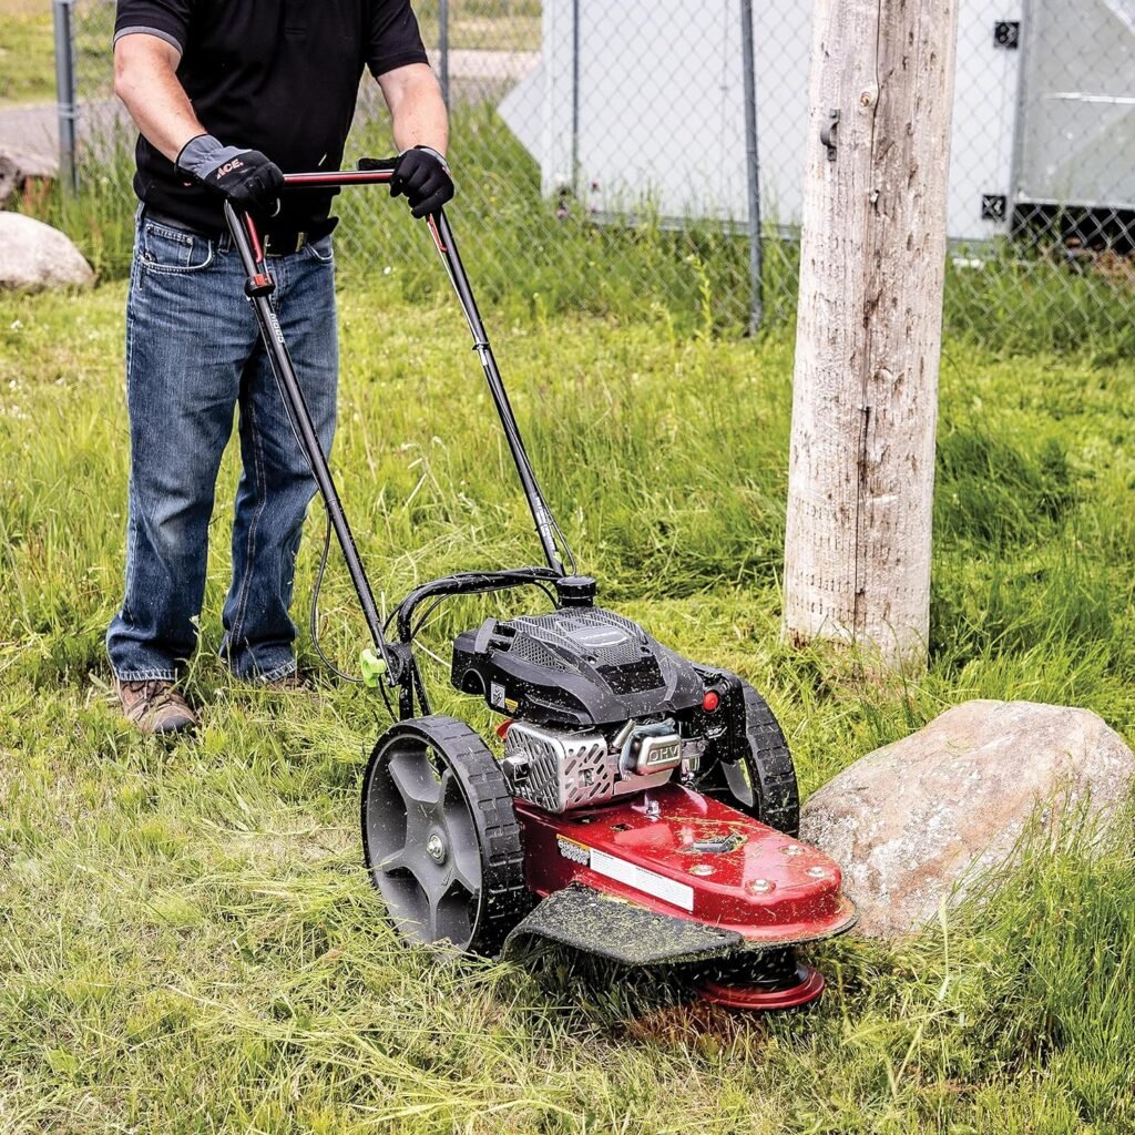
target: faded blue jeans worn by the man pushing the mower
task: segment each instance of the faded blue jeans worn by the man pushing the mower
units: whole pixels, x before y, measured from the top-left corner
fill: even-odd
[[[327,453],[338,376],[331,238],[272,257],[268,267],[276,313]],[[236,407],[243,472],[220,653],[239,678],[272,680],[295,670],[288,607],[316,486],[244,280],[227,234],[209,239],[140,213],[126,305],[126,594],[107,631],[121,681],[174,680],[196,646],[209,519]]]

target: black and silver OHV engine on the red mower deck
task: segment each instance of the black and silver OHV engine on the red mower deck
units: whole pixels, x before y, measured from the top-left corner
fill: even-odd
[[[565,607],[459,636],[454,684],[508,716],[513,796],[564,813],[690,782],[739,706],[737,689],[602,607]]]

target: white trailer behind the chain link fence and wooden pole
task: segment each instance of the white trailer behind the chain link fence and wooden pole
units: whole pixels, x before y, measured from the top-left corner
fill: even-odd
[[[759,212],[799,225],[812,3],[754,3]],[[539,66],[502,102],[547,196],[598,217],[743,227],[740,0],[546,0]],[[917,123],[911,124],[918,128]],[[947,230],[1033,207],[1135,209],[1135,0],[959,0]]]

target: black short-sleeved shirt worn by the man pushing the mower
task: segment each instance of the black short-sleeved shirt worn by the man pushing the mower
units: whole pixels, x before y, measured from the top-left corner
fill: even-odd
[[[363,67],[427,62],[410,0],[118,0],[115,41],[148,32],[182,52],[177,77],[204,128],[285,173],[338,169]],[[221,199],[186,185],[140,137],[134,191],[158,212],[224,228]],[[285,192],[279,228],[327,218],[333,194]]]

